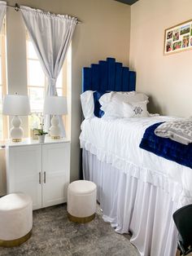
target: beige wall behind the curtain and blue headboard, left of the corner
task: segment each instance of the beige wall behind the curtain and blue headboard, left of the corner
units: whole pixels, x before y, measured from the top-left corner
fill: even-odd
[[[71,179],[80,170],[81,68],[108,56],[129,64],[130,7],[113,0],[18,0],[19,4],[61,14],[82,21],[72,39],[72,151]],[[15,5],[15,1],[8,1]],[[8,89],[26,93],[26,51],[20,12],[7,11]],[[26,122],[25,122],[26,124]]]

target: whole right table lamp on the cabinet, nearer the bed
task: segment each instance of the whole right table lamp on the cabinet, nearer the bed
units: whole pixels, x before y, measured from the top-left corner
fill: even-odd
[[[50,137],[60,139],[61,129],[59,117],[68,113],[67,99],[63,96],[46,96],[44,101],[43,114],[53,115],[51,118]]]

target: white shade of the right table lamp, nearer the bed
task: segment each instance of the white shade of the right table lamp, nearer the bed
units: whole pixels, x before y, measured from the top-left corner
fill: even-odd
[[[62,96],[46,96],[43,113],[50,115],[65,115],[68,113],[67,99]]]

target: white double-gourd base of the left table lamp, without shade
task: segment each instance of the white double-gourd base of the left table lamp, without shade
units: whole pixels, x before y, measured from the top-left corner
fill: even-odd
[[[10,130],[10,137],[13,142],[20,142],[24,135],[24,130],[20,127],[21,125],[20,117],[18,116],[13,117],[11,124],[13,127]]]

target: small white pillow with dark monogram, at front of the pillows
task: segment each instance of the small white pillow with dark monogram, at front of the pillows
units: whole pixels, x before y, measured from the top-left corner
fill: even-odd
[[[131,104],[123,103],[123,116],[129,117],[149,117],[146,104],[148,100],[133,102]]]

